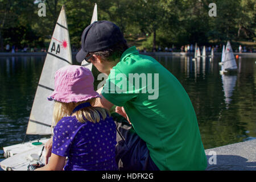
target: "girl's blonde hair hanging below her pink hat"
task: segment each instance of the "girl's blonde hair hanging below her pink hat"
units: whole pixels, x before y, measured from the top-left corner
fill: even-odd
[[[102,107],[93,107],[96,102],[96,98],[92,98],[87,101],[69,103],[55,101],[53,109],[52,127],[56,126],[57,122],[59,122],[61,118],[72,115],[73,109],[75,109],[76,106],[84,102],[90,102],[90,105],[92,106],[84,107],[74,113],[79,122],[84,123],[86,122],[86,120],[88,120],[89,122],[98,123],[100,122],[101,117],[102,119],[105,119],[107,116],[110,116],[108,110]]]

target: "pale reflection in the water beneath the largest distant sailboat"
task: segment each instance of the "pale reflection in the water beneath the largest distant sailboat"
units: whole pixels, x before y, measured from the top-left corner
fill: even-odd
[[[232,101],[232,95],[234,87],[236,86],[237,76],[236,75],[222,75],[222,84],[225,95],[225,103],[228,106]]]

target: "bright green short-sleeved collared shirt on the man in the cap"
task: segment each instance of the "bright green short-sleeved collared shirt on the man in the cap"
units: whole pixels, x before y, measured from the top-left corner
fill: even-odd
[[[204,170],[207,158],[195,110],[172,73],[130,47],[110,71],[102,96],[123,106],[160,170]]]

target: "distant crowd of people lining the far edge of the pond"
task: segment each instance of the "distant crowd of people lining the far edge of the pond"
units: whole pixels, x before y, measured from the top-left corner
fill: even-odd
[[[204,46],[199,46],[200,50],[203,50]],[[211,52],[212,49],[214,52],[222,52],[222,44],[220,45],[216,45],[216,46],[205,46],[205,51],[206,52]],[[72,52],[77,52],[79,51],[75,46],[72,46]],[[155,49],[138,49],[139,52],[194,52],[195,51],[195,45],[191,44],[187,44],[181,47],[176,47],[174,45],[172,45],[171,47],[164,47],[162,48],[161,46],[158,46]],[[247,53],[252,53],[252,52],[256,52],[256,49],[252,46],[238,46],[238,48],[234,48],[233,49],[234,52],[239,52],[239,53],[243,53],[243,52],[247,52]],[[15,45],[10,46],[9,44],[7,44],[5,46],[5,52],[11,52],[11,53],[15,53],[15,52],[47,52],[47,49],[45,47],[33,47],[33,46],[24,46],[22,48],[18,48]]]

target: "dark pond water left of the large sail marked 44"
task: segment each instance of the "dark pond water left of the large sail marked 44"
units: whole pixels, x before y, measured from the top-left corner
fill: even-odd
[[[0,148],[24,138],[43,68],[39,60],[41,57],[0,57]]]

